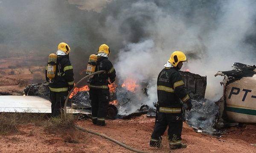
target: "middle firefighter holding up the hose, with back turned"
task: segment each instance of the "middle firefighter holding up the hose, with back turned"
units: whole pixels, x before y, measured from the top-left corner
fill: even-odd
[[[105,73],[96,74],[90,81],[90,99],[92,106],[92,122],[95,125],[105,126],[109,102],[108,84],[113,83],[116,78],[116,71],[112,63],[108,60],[110,50],[108,45],[102,44],[97,52],[97,64],[95,71],[105,70]],[[108,81],[110,79],[110,82]]]

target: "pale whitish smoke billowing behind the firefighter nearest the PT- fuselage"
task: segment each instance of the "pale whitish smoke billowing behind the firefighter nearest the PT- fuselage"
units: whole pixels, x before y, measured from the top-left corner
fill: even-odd
[[[119,51],[116,63],[118,76],[135,78],[138,82],[150,80],[149,99],[145,100],[150,105],[151,102],[157,102],[156,82],[159,72],[171,53],[180,50],[188,54],[189,62],[185,63],[185,68],[189,68],[192,73],[207,75],[206,98],[220,98],[223,87],[219,82],[222,78],[214,77],[218,70],[230,70],[233,62],[255,64],[252,57],[254,48],[244,39],[255,32],[250,31],[250,28],[255,24],[256,11],[255,3],[250,0],[224,1],[218,6],[220,13],[214,22],[204,14],[206,10],[195,10],[198,16],[190,21],[194,24],[189,24],[183,14],[168,13],[152,2],[140,0],[131,5],[128,8],[130,11],[124,10],[125,17],[139,20],[141,14],[146,16],[151,12],[152,18],[143,25],[148,39],[137,43],[125,42],[127,45]],[[124,17],[122,14],[120,16]],[[125,20],[121,17],[109,20],[119,23]],[[189,56],[191,54],[198,58]]]

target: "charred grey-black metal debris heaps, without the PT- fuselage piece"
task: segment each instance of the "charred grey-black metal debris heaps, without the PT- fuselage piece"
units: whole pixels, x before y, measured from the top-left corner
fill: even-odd
[[[214,133],[214,123],[218,113],[218,106],[214,102],[204,99],[204,94],[207,85],[207,77],[202,77],[198,74],[180,71],[182,79],[185,83],[189,96],[192,99],[193,108],[190,112],[186,112],[186,122],[196,130],[202,130],[207,133]],[[147,83],[143,84],[142,90],[146,95]],[[49,99],[49,89],[46,83],[38,83],[28,85],[24,93],[26,95],[41,96]],[[111,119],[122,118],[128,119],[141,114],[147,116],[155,116],[155,108],[148,105],[137,105],[137,110],[133,112],[127,111],[131,106],[138,101],[140,97],[136,93],[126,90],[122,87],[117,87],[116,91],[111,93],[111,100],[117,100],[116,105],[110,104],[108,108],[108,117]],[[71,99],[69,99],[69,106],[77,109],[83,109],[90,112],[91,104],[88,91],[79,91]],[[134,108],[134,106],[133,106]],[[129,112],[129,113],[126,113]]]

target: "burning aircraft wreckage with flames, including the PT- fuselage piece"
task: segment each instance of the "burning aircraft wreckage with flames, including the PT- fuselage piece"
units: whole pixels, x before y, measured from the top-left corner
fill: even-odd
[[[241,63],[235,63],[233,67],[231,71],[219,71],[215,75],[224,76],[224,81],[221,82],[224,85],[224,94],[218,102],[204,99],[207,77],[180,71],[193,105],[191,111],[185,112],[189,126],[197,131],[217,134],[216,129],[236,125],[231,124],[234,122],[256,123],[256,67]],[[126,79],[122,85],[109,85],[111,99],[108,117],[128,119],[145,113],[148,117],[155,116],[156,109],[146,105],[148,102],[142,99],[143,96],[148,96],[147,87],[148,83],[138,84],[132,79]],[[28,85],[24,92],[26,95],[49,99],[46,83]],[[68,105],[90,113],[88,85],[75,88]]]

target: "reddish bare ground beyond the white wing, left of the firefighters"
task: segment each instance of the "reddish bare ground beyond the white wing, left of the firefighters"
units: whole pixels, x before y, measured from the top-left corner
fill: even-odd
[[[22,95],[26,85],[42,82],[45,67],[42,59],[34,57],[11,57],[0,59],[0,95]]]

